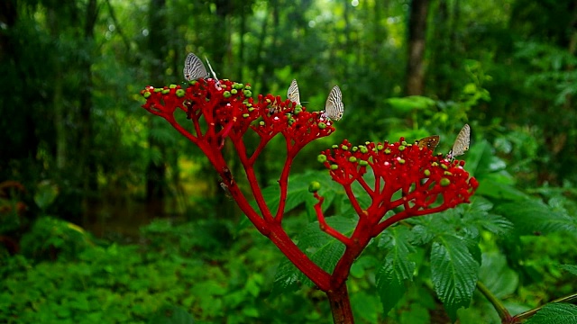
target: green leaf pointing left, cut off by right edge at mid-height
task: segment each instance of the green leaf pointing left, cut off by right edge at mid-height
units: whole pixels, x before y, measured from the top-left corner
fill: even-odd
[[[567,232],[574,235],[577,232],[577,220],[539,200],[502,203],[496,211],[511,220],[521,234]]]

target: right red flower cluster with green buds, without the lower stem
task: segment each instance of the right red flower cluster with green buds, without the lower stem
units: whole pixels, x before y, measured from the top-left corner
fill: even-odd
[[[330,170],[333,180],[345,189],[358,182],[371,197],[371,205],[362,209],[353,194],[349,198],[359,216],[369,218],[373,234],[390,224],[412,216],[420,216],[453,208],[469,202],[478,182],[463,169],[464,161],[450,161],[434,156],[428,148],[398,142],[353,146],[346,139],[318,157]],[[368,183],[363,175],[372,170],[374,180]],[[347,192],[348,193],[348,192]],[[380,222],[387,211],[403,207],[393,217]]]

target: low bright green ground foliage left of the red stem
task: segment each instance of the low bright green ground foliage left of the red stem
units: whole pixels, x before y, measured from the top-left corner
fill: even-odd
[[[197,323],[325,322],[326,306],[314,311],[305,293],[268,298],[276,249],[257,233],[234,246],[202,244],[214,226],[156,221],[142,229],[146,245],[90,246],[38,264],[10,257],[0,267],[0,321],[190,323],[191,314]],[[161,237],[168,240],[157,245]]]

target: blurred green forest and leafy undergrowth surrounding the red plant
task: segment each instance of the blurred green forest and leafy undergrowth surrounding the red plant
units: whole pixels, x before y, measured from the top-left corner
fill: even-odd
[[[468,122],[472,156],[490,155],[495,171],[481,195],[527,195],[574,215],[576,47],[569,0],[4,1],[0,312],[22,322],[139,322],[162,307],[207,322],[329,318],[314,291],[267,299],[282,256],[239,226],[206,157],[141,108],[143,86],[184,81],[188,52],[255,94],[285,98],[296,78],[312,110],[341,87],[343,120],[298,155],[296,174],[325,172],[316,155],[342,139],[439,134],[446,153]],[[277,180],[276,145],[258,164],[261,186]],[[543,257],[574,258],[575,231],[560,232],[526,242],[540,257],[508,291],[517,305],[574,290]],[[359,285],[357,318],[384,319],[371,284]],[[540,294],[527,301],[527,291]]]

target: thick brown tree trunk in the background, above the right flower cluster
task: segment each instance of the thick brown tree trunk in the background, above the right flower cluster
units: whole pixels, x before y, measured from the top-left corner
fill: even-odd
[[[408,64],[407,85],[408,95],[424,93],[426,40],[426,16],[429,9],[429,0],[413,0],[408,19]]]

